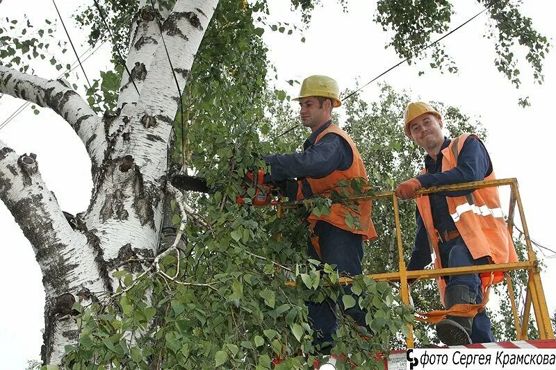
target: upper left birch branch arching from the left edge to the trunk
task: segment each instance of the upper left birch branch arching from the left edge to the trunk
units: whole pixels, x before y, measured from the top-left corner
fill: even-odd
[[[0,65],[0,92],[54,110],[72,126],[91,158],[104,151],[104,140],[95,140],[103,129],[101,119],[67,81],[47,80]]]

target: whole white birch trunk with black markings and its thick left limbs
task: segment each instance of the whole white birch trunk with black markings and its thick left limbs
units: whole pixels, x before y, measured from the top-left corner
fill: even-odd
[[[126,58],[140,94],[124,75],[115,117],[97,117],[64,81],[0,66],[0,93],[58,112],[92,160],[89,208],[70,224],[40,178],[35,155],[18,156],[0,142],[0,199],[31,241],[44,276],[42,358],[48,364],[60,364],[65,345],[76,340],[74,301],[113,291],[111,273],[120,262],[156,253],[172,123],[217,5],[218,0],[177,0],[169,15],[160,15],[149,0],[140,1]],[[162,30],[156,17],[162,18]]]

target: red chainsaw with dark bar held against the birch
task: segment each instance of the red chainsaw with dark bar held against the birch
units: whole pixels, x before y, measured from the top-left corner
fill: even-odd
[[[255,194],[251,199],[252,205],[257,207],[263,207],[265,205],[278,205],[281,203],[281,191],[279,187],[275,187],[272,183],[264,182],[265,173],[262,168],[254,173],[254,171],[248,171],[245,174],[245,181],[243,183],[243,189],[247,190],[247,187],[254,187]],[[213,194],[218,189],[214,187],[209,187],[206,183],[206,179],[197,176],[189,176],[186,174],[178,174],[172,177],[172,185],[181,190],[189,190],[193,192],[202,192],[207,194]],[[272,195],[276,194],[277,199],[272,199]],[[243,196],[238,196],[236,199],[238,204],[245,203]]]

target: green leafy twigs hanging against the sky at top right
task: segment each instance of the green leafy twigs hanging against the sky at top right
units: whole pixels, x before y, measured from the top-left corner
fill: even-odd
[[[521,80],[517,68],[517,53],[521,46],[525,60],[532,68],[534,81],[543,82],[542,62],[550,48],[546,36],[535,31],[531,19],[521,14],[514,1],[477,0],[484,4],[490,17],[489,31],[486,37],[495,40],[496,60],[494,65],[513,85],[519,87]],[[403,0],[377,2],[375,22],[382,25],[384,31],[393,31],[389,47],[399,56],[407,58],[432,42],[434,35],[442,35],[450,28],[451,15],[454,13],[452,2],[447,0]],[[435,37],[436,38],[436,37]],[[413,59],[430,59],[430,67],[457,72],[457,67],[445,53],[441,44],[435,44],[431,51],[418,53]],[[411,60],[408,61],[411,63]],[[423,72],[420,72],[423,74]],[[521,106],[528,106],[528,98],[519,99]]]

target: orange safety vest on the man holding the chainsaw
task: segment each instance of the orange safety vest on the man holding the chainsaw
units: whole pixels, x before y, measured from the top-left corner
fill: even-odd
[[[330,196],[333,190],[336,190],[336,192],[338,192],[339,194],[343,194],[344,187],[339,186],[340,180],[363,178],[365,182],[368,181],[367,172],[365,171],[365,165],[363,165],[361,154],[359,154],[359,151],[355,147],[355,144],[353,143],[351,137],[347,135],[347,133],[345,133],[345,131],[343,131],[341,128],[339,128],[335,124],[330,124],[327,128],[325,128],[325,130],[322,131],[322,133],[320,133],[320,135],[316,137],[315,144],[318,143],[318,141],[322,139],[322,137],[329,133],[339,135],[343,138],[343,140],[347,142],[347,144],[350,144],[353,153],[353,162],[348,169],[345,169],[343,171],[336,169],[332,172],[332,174],[329,174],[328,176],[325,176],[323,178],[306,178],[306,180],[309,182],[309,185],[311,186],[311,191],[315,195],[318,194],[321,196]],[[298,181],[297,189],[297,199],[303,199],[304,196],[301,191],[301,181]],[[348,188],[347,190],[350,194],[354,194],[354,191],[351,188]],[[320,215],[318,217],[313,212],[311,212],[311,214],[307,218],[307,221],[309,221],[309,224],[311,224],[311,230],[313,230],[317,221],[321,220],[326,221],[329,224],[337,226],[338,228],[341,228],[343,230],[348,230],[354,234],[363,235],[363,240],[376,239],[377,232],[375,230],[375,226],[373,225],[373,220],[370,219],[371,201],[358,201],[356,204],[357,209],[352,209],[342,203],[332,203],[330,207],[330,214]],[[347,215],[352,215],[352,217],[359,219],[359,227],[354,228],[347,226],[347,224],[345,223],[345,217]]]

